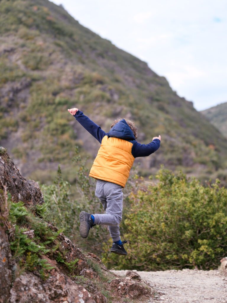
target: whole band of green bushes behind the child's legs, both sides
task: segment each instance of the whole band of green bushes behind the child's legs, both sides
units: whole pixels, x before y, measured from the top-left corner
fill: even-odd
[[[48,202],[46,216],[64,228],[78,247],[98,255],[110,269],[208,270],[219,266],[227,249],[227,189],[218,179],[202,185],[181,171],[162,167],[154,181],[144,182],[134,173],[123,190],[121,238],[129,240],[125,257],[110,253],[112,242],[105,226],[95,226],[86,239],[80,237],[80,211],[103,213],[94,196],[95,184],[90,183],[84,167],[77,172],[76,199],[60,170],[54,185],[41,187]]]

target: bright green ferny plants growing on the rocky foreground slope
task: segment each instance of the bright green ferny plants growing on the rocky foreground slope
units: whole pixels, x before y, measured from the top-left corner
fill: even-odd
[[[37,270],[41,278],[48,278],[48,270],[54,267],[47,263],[43,255],[51,250],[47,245],[53,243],[58,233],[51,231],[46,222],[36,218],[28,211],[23,202],[12,203],[9,201],[8,205],[7,220],[10,222],[9,226],[13,226],[8,231],[12,257],[18,261],[20,271]]]

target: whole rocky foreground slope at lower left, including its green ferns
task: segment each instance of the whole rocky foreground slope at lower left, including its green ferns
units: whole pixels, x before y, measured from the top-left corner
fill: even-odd
[[[118,278],[82,252],[46,211],[38,183],[21,176],[0,146],[0,302],[116,303],[153,294],[136,273]]]

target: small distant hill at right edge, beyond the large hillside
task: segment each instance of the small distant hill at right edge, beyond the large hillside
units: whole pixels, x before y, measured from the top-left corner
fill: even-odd
[[[227,138],[227,102],[201,112]]]

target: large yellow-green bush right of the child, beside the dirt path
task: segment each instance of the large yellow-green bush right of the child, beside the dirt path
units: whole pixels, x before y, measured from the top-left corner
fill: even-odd
[[[217,268],[227,249],[227,189],[164,168],[156,177],[131,194],[121,227],[128,257],[104,254],[103,261],[119,269]]]

